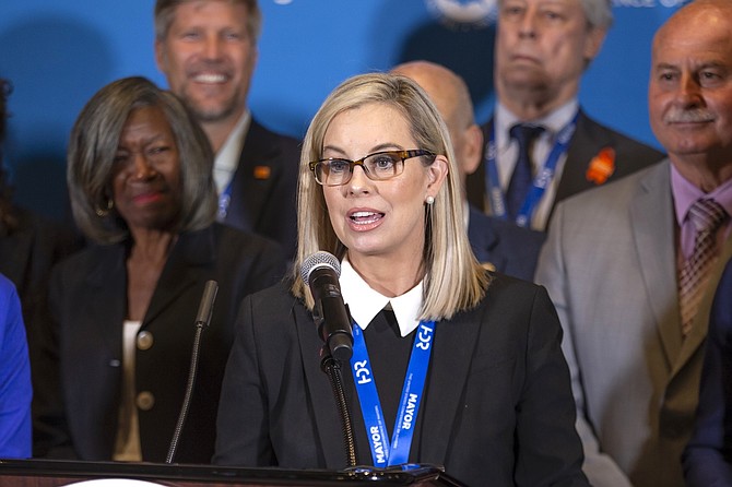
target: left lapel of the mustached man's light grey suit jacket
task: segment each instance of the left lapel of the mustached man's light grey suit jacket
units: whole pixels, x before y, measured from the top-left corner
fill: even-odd
[[[669,163],[657,166],[638,187],[630,204],[633,236],[661,343],[672,366],[682,346],[676,251]]]

